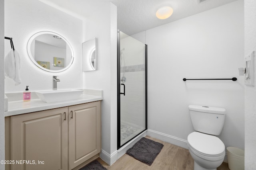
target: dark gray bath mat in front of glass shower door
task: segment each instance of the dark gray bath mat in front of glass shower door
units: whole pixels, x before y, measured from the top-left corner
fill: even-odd
[[[126,154],[151,166],[163,147],[163,144],[143,137],[132,148],[128,149]]]

